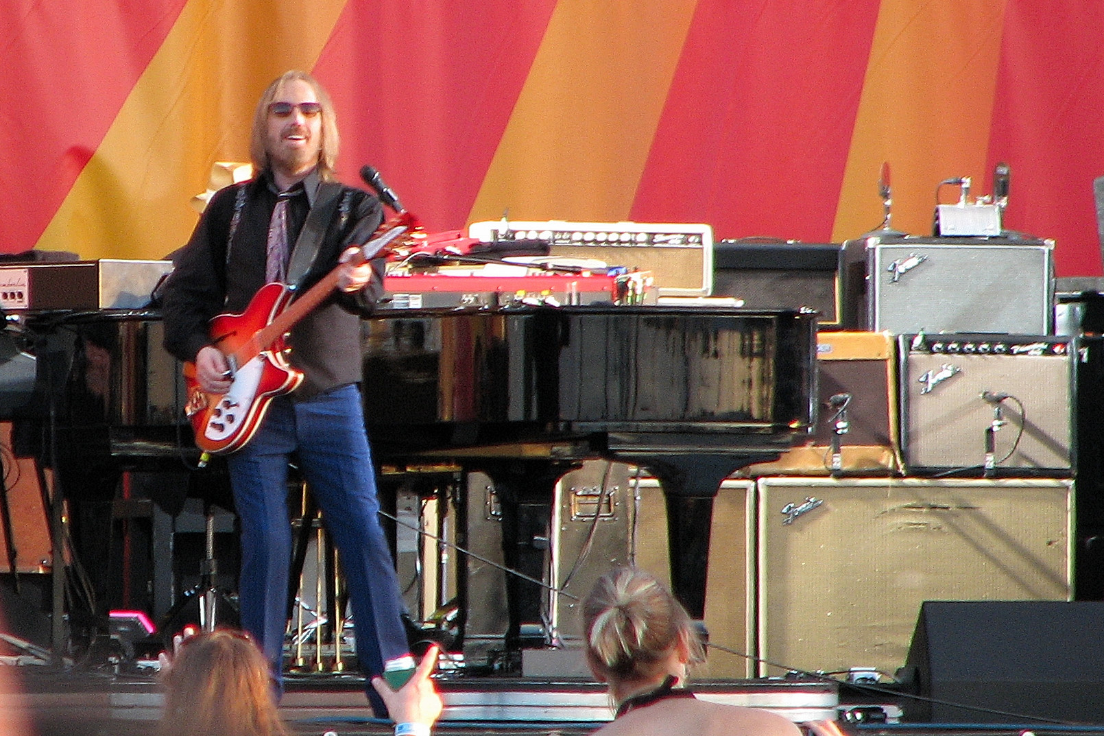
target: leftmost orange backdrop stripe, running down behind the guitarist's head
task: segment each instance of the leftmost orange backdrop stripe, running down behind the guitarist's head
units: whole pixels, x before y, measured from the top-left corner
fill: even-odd
[[[253,107],[311,69],[343,0],[191,0],[135,84],[39,246],[162,257],[187,242],[216,160],[248,160]]]

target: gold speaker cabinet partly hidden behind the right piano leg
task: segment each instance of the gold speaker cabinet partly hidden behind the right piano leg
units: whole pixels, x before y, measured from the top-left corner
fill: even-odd
[[[659,482],[640,479],[637,487],[637,521],[634,526],[634,564],[670,583],[667,547],[667,507]],[[696,680],[743,680],[754,676],[751,654],[754,625],[751,581],[751,533],[755,502],[753,481],[726,480],[713,500],[709,574],[705,580],[705,628],[711,644],[705,665],[692,673]]]

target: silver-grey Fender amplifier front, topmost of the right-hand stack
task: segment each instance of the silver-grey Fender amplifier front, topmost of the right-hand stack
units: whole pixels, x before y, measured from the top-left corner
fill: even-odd
[[[1052,241],[867,241],[867,327],[891,333],[1048,335]]]

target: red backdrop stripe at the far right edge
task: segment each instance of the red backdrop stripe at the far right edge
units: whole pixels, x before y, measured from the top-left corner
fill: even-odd
[[[989,138],[1011,166],[1005,225],[1058,241],[1059,275],[1100,275],[1093,179],[1104,176],[1104,4],[1009,0]]]

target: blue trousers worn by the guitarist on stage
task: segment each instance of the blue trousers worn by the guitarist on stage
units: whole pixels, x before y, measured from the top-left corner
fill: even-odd
[[[357,656],[365,675],[410,651],[394,561],[378,512],[360,390],[344,386],[307,401],[277,397],[254,438],[227,458],[242,528],[238,596],[242,628],[262,645],[280,680],[287,628],[291,526],[288,456],[298,453],[307,485],[337,545],[355,620]],[[379,715],[382,703],[367,692]]]

